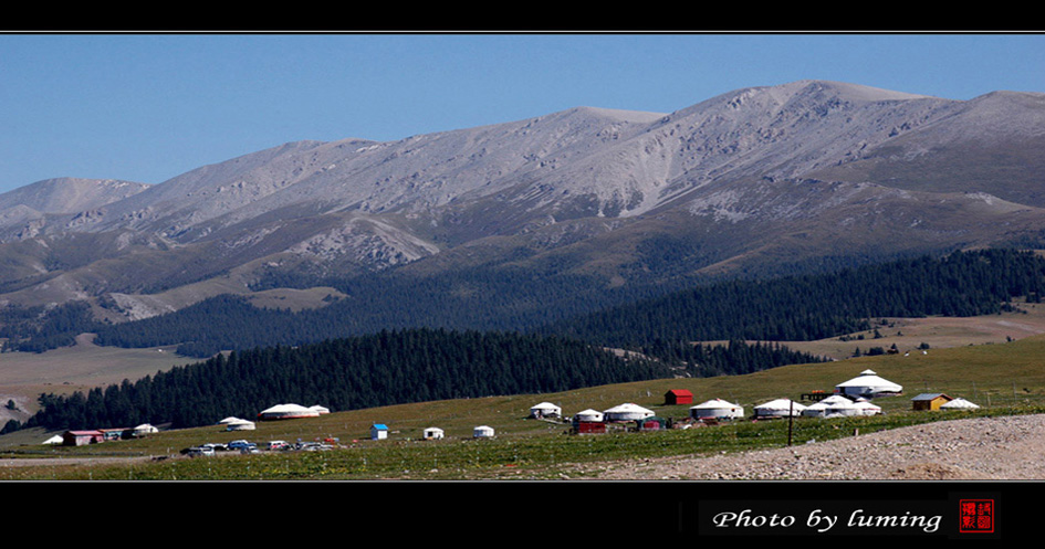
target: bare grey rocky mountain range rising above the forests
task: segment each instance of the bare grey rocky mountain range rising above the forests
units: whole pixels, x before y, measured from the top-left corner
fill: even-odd
[[[673,113],[578,107],[397,141],[288,142],[157,184],[63,178],[0,194],[0,305],[84,300],[118,323],[221,294],[479,271],[655,294],[1035,246],[1043,150],[1045,94],[824,81]]]

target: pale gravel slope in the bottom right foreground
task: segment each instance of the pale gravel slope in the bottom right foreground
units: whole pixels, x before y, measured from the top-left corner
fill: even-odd
[[[1045,479],[1045,415],[942,421],[775,450],[577,467],[613,479]]]

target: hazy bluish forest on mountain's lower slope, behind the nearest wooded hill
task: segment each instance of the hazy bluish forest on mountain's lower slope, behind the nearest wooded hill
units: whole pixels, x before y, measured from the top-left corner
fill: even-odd
[[[525,330],[551,319],[645,298],[651,288],[606,289],[587,276],[542,278],[520,270],[473,270],[415,277],[386,274],[352,279],[279,278],[271,284],[333,286],[347,297],[321,308],[261,309],[221,295],[153,318],[92,326],[98,345],[179,345],[178,352],[210,357],[220,350],[301,345],[382,329]],[[268,287],[268,286],[259,286]],[[658,292],[662,293],[662,292]]]

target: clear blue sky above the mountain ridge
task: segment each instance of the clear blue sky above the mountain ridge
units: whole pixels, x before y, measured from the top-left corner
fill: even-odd
[[[1045,92],[1045,34],[0,34],[0,192],[806,78]]]

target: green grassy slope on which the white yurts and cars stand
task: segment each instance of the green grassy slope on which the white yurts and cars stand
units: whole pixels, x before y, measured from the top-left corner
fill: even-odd
[[[558,478],[569,464],[735,452],[780,447],[790,441],[825,441],[926,421],[978,415],[1045,412],[1045,337],[929,349],[927,353],[885,355],[836,362],[797,365],[748,376],[667,379],[573,390],[553,394],[490,397],[335,412],[314,419],[259,422],[257,431],[227,432],[220,426],[166,431],[143,440],[107,442],[84,447],[48,447],[29,443],[41,432],[18,432],[3,457],[38,457],[38,465],[0,466],[0,479],[474,479]],[[621,402],[650,408],[658,415],[682,419],[689,405],[663,405],[670,389],[689,389],[697,402],[723,398],[751,407],[775,398],[798,400],[813,390],[833,387],[872,369],[905,387],[905,394],[877,399],[885,414],[844,420],[736,421],[709,427],[661,432],[612,431],[600,435],[567,435],[568,426],[527,419],[529,408],[554,402],[566,415]],[[944,392],[983,407],[976,412],[913,412],[910,399],[921,392]],[[217,419],[216,419],[217,420]],[[373,423],[388,425],[387,440],[369,440]],[[490,425],[497,436],[472,439],[472,429]],[[447,437],[422,440],[422,430],[439,426]],[[190,458],[181,448],[207,442],[248,439],[336,439],[325,452],[219,453]],[[2,444],[2,443],[0,443]],[[79,464],[53,457],[127,457],[117,464]],[[129,458],[137,457],[130,461]],[[9,462],[13,463],[13,462]]]

